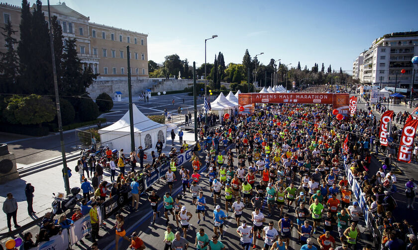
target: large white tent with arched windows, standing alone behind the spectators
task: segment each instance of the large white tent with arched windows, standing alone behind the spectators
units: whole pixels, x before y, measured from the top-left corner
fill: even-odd
[[[132,106],[132,111],[135,147],[142,146],[144,150],[153,149],[159,139],[164,148],[166,146],[167,125],[149,119],[139,111],[136,105]],[[99,134],[102,142],[111,142],[113,149],[124,149],[129,154],[131,148],[129,110],[117,122],[99,129]]]

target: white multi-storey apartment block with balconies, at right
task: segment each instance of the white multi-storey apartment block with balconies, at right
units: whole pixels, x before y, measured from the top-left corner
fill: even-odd
[[[417,88],[418,67],[411,62],[417,55],[418,31],[386,34],[375,39],[370,48],[356,58],[353,75],[361,83],[382,83],[382,87],[393,87],[397,80],[397,87],[411,89],[416,70],[414,88]],[[402,74],[401,70],[405,73]]]

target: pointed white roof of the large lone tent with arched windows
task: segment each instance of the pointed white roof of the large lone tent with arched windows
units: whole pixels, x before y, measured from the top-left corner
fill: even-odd
[[[132,105],[132,113],[134,133],[140,133],[159,127],[167,127],[167,125],[165,124],[155,122],[146,117],[141,111],[139,111],[136,105]],[[100,129],[100,131],[117,131],[130,133],[129,110],[117,122],[113,123],[110,126]]]

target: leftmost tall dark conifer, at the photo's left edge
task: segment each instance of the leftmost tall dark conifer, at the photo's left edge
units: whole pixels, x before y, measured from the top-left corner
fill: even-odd
[[[6,23],[1,29],[6,52],[0,52],[0,91],[1,93],[16,93],[18,58],[14,45],[17,40],[12,37],[16,31],[12,29],[11,22]]]

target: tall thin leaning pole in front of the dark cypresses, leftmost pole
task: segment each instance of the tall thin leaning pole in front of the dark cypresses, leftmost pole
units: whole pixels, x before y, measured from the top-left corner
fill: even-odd
[[[55,102],[57,103],[57,119],[58,119],[58,131],[60,132],[60,144],[61,144],[61,156],[64,174],[64,185],[67,195],[70,193],[70,181],[68,179],[68,167],[67,159],[65,156],[65,145],[64,145],[64,134],[62,133],[62,120],[61,120],[61,108],[60,108],[60,97],[58,94],[58,82],[57,82],[57,69],[55,65],[55,52],[54,42],[52,38],[52,23],[51,23],[51,11],[49,8],[48,0],[48,18],[49,18],[49,43],[51,45],[51,56],[52,56],[52,74],[54,76],[54,88],[55,88]]]

